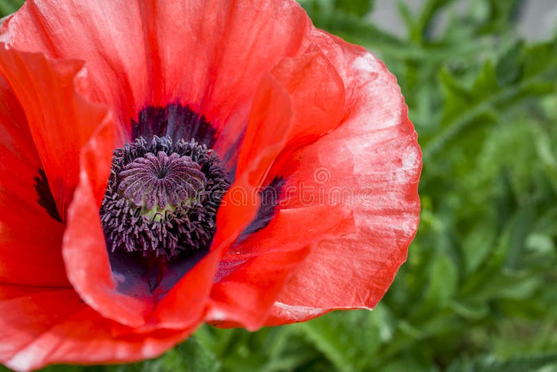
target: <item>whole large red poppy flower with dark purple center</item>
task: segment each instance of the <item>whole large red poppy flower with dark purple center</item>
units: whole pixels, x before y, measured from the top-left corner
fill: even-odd
[[[372,308],[405,261],[400,88],[294,1],[28,0],[0,41],[6,366]]]

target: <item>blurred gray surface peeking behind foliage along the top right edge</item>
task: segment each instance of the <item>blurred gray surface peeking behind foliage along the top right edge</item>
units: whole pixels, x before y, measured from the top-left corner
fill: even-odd
[[[507,1],[507,0],[500,0]],[[409,8],[417,12],[424,0],[402,0]],[[457,9],[465,10],[471,0],[457,0]],[[405,35],[405,26],[400,20],[395,0],[375,0],[375,11],[370,15],[372,22],[382,29]],[[526,40],[546,40],[554,35],[557,25],[557,0],[526,0],[519,14],[517,33]],[[444,20],[439,20],[443,24]]]

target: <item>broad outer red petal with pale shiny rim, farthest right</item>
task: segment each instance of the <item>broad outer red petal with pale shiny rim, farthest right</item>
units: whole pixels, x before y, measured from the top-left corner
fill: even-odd
[[[356,231],[311,251],[278,295],[269,325],[307,320],[323,309],[374,307],[418,225],[421,151],[400,88],[365,49],[337,40],[352,68],[347,114],[336,130],[301,148],[292,157],[298,162],[285,163],[292,166],[285,187],[323,189],[326,203],[350,206]],[[304,205],[294,198],[289,204]]]

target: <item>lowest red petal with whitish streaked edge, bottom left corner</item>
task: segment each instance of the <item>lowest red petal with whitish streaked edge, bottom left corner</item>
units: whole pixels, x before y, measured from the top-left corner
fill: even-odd
[[[157,357],[193,329],[113,334],[111,320],[73,290],[0,285],[0,362],[17,371],[53,363],[134,362]]]

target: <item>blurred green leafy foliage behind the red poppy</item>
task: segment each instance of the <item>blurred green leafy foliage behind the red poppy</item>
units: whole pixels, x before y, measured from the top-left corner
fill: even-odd
[[[87,369],[557,371],[557,38],[519,40],[514,0],[398,2],[404,37],[370,22],[370,0],[301,3],[398,77],[424,164],[407,263],[374,311],[203,326],[154,361]],[[47,371],[66,369],[84,368]]]

